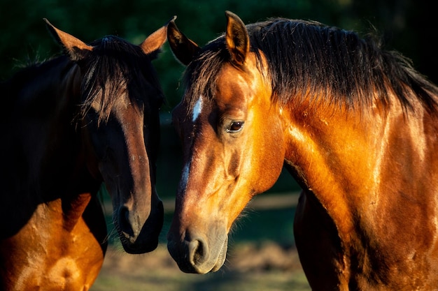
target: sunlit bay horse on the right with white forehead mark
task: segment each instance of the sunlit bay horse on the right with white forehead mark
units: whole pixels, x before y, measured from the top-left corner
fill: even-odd
[[[234,220],[285,165],[304,190],[294,230],[313,290],[436,290],[438,88],[351,31],[226,16],[202,48],[168,29],[188,65],[168,234],[180,269],[218,270]]]

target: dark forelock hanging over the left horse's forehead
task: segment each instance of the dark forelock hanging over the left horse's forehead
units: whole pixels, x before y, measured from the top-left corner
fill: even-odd
[[[90,45],[94,47],[93,50],[88,52],[85,59],[78,61],[79,66],[85,68],[81,86],[84,98],[81,117],[88,112],[98,96],[104,96],[105,98],[99,100],[100,110],[97,114],[99,121],[108,119],[111,108],[120,96],[118,91],[141,89],[145,86],[141,78],[146,79],[156,91],[157,94],[155,92],[148,94],[157,99],[153,101],[157,104],[162,103],[164,95],[160,82],[154,74],[155,69],[151,64],[150,56],[144,54],[141,47],[132,45],[117,36],[105,36]],[[99,94],[100,91],[102,94]],[[131,92],[129,97],[133,98],[131,102],[146,100],[146,96],[139,92]]]

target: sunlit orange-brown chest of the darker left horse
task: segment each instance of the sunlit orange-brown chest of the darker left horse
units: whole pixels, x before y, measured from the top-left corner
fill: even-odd
[[[29,223],[1,242],[5,290],[87,290],[104,260],[104,253],[85,221],[66,230],[62,210],[38,205]],[[20,262],[18,264],[17,262]]]

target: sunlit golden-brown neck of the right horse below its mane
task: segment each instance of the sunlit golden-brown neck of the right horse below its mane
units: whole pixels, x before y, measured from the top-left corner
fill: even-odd
[[[290,110],[284,127],[285,161],[340,232],[355,227],[345,218],[355,217],[358,209],[366,216],[363,209],[369,205],[376,211],[383,208],[380,194],[418,195],[422,189],[412,184],[433,178],[422,165],[432,159],[430,149],[438,147],[425,132],[435,130],[436,136],[437,126],[420,104],[414,107],[415,113],[404,112],[400,102],[392,100],[389,109],[375,105],[369,112],[309,110],[310,106]]]

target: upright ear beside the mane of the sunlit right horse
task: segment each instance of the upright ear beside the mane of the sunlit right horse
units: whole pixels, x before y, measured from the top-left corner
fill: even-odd
[[[246,54],[249,52],[249,36],[245,24],[232,12],[225,11],[227,17],[227,31],[225,32],[225,44],[232,62],[242,66],[245,62]]]

